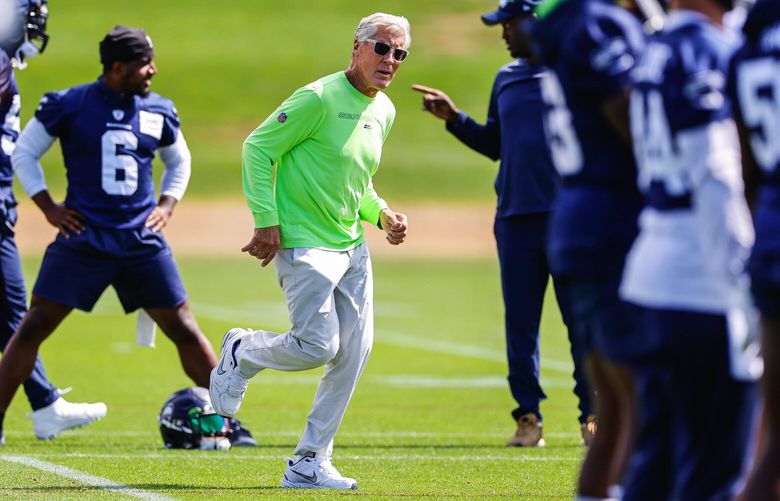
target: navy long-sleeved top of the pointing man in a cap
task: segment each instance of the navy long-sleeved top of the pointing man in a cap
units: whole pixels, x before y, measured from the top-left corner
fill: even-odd
[[[555,200],[560,177],[542,122],[540,80],[545,71],[523,59],[505,65],[493,83],[485,125],[464,112],[447,125],[469,147],[501,159],[495,181],[498,217],[548,212]]]

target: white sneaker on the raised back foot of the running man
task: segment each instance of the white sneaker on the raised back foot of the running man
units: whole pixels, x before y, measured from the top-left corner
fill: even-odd
[[[211,370],[209,396],[214,410],[221,416],[234,417],[244,400],[249,380],[239,374],[236,348],[248,334],[246,329],[233,328],[222,338],[219,364]]]

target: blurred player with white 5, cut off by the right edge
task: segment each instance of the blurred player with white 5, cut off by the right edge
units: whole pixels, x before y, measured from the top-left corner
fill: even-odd
[[[780,4],[759,0],[744,26],[745,45],[728,79],[739,124],[745,194],[756,242],[748,264],[761,312],[766,439],[744,501],[780,499]]]

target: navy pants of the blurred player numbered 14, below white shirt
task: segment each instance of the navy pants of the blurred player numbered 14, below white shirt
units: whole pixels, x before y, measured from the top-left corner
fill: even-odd
[[[731,376],[726,317],[652,308],[635,315],[658,348],[636,371],[640,429],[623,499],[730,499],[757,392]]]

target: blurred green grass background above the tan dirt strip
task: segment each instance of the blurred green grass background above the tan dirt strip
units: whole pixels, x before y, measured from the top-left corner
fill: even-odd
[[[176,102],[193,152],[190,195],[240,196],[246,136],[296,88],[345,69],[361,17],[384,11],[409,19],[412,46],[387,91],[398,114],[375,179],[377,190],[393,201],[491,203],[497,165],[423,113],[420,95],[409,86],[441,88],[484,120],[493,77],[510,61],[500,28],[486,27],[479,18],[495,5],[488,0],[52,0],[49,47],[17,72],[22,117],[26,122],[45,92],[98,76],[98,42],[114,25],[143,27],[154,40],[160,70],[153,90]],[[44,167],[58,192],[64,181],[55,149]]]

